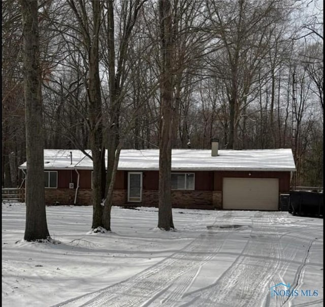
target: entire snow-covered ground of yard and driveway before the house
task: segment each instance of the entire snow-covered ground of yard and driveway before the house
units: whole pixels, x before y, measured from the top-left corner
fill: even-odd
[[[155,208],[113,207],[113,232],[94,234],[91,217],[47,207],[61,244],[28,243],[25,204],[3,203],[2,305],[323,305],[322,219],[173,209],[177,231],[166,232]]]

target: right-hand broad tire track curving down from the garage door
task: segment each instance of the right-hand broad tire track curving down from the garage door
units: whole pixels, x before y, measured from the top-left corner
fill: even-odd
[[[247,245],[233,265],[210,287],[189,293],[184,306],[263,305],[269,294],[268,281],[280,265],[279,234],[269,226],[273,219],[269,213],[257,213]]]

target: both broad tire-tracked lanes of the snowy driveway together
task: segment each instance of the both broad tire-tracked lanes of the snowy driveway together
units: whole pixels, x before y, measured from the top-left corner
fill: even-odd
[[[286,248],[284,244],[287,242],[282,239],[286,238],[289,242],[295,227],[302,230],[297,240],[299,235],[309,239],[312,236],[305,232],[308,225],[303,229],[300,228],[302,225],[294,223],[292,227],[287,224],[279,227],[279,222],[282,223],[274,213],[258,212],[251,218],[252,228],[248,237],[247,232],[243,236],[241,232],[234,231],[236,229],[229,228],[220,228],[214,234],[202,234],[181,251],[132,278],[56,307],[280,306],[284,298],[270,299],[270,284],[277,284],[279,280],[283,282],[282,276],[290,263],[287,260],[295,259],[299,251],[298,247]],[[234,223],[231,213],[218,217],[218,225],[222,226],[222,223]],[[231,234],[240,234],[243,241],[246,240],[232,266],[210,286],[186,293],[203,264],[217,256]]]

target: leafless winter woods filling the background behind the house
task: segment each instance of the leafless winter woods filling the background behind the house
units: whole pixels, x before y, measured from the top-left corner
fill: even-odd
[[[221,149],[292,148],[293,184],[322,185],[322,12],[313,5],[38,1],[44,148],[92,150],[93,228],[109,220],[121,149],[165,148],[166,161],[171,148],[210,148],[213,137]],[[19,3],[3,1],[5,187],[20,185],[26,160],[21,20]]]

